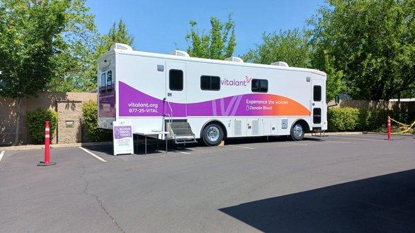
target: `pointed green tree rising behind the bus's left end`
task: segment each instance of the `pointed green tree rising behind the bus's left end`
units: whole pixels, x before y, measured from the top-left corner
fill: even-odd
[[[134,44],[134,38],[129,34],[127,25],[124,23],[124,21],[122,21],[122,19],[118,21],[118,24],[114,22],[113,26],[109,29],[108,34],[100,37],[98,44],[95,46],[95,53],[92,56],[92,62],[88,70],[84,73],[85,77],[89,77],[89,80],[85,85],[88,88],[84,88],[85,91],[97,88],[98,71],[96,63],[98,58],[106,53],[109,48],[115,43],[128,44],[131,47],[133,47]]]

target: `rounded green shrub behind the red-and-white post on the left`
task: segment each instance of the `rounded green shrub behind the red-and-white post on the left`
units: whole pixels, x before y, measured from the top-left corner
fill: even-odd
[[[53,110],[36,109],[26,114],[26,126],[32,142],[40,144],[45,139],[45,121],[49,121],[50,138],[53,137],[57,126],[58,114]]]

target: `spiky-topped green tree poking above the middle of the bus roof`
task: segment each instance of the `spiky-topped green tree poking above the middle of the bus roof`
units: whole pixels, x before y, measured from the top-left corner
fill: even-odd
[[[196,21],[190,21],[192,29],[187,32],[185,39],[190,43],[187,53],[192,57],[203,57],[210,59],[225,59],[231,57],[237,45],[235,39],[235,24],[232,15],[228,21],[222,23],[215,17],[210,17],[212,28],[207,35],[196,29]]]

